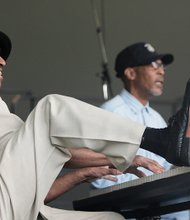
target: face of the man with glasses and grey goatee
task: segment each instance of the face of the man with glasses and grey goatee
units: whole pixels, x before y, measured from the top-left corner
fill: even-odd
[[[135,67],[133,87],[144,96],[159,96],[164,85],[164,67],[161,60],[156,60],[150,65]]]

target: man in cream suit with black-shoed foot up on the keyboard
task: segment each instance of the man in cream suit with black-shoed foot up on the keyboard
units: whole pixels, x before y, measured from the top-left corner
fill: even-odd
[[[0,32],[0,83],[10,51],[9,37]],[[63,166],[108,165],[120,171],[130,171],[130,165],[132,168],[137,166],[135,155],[139,146],[173,164],[189,166],[190,144],[189,137],[186,137],[189,102],[190,82],[183,106],[170,125],[164,129],[152,129],[60,95],[43,98],[23,122],[9,112],[1,99],[0,219],[123,219],[112,212],[53,209],[45,206],[44,201],[53,188],[55,191],[59,189],[59,184],[55,183]],[[89,155],[89,160],[83,160],[81,151]],[[96,157],[97,160],[90,159]],[[147,166],[146,161],[142,166]],[[147,168],[161,171],[155,163]],[[102,172],[104,174],[112,174],[112,171]]]

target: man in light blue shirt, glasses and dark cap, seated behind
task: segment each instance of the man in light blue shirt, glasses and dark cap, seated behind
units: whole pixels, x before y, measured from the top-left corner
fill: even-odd
[[[105,102],[101,107],[148,127],[166,127],[162,116],[149,106],[149,100],[162,94],[165,66],[171,64],[173,60],[172,54],[159,54],[149,43],[138,42],[126,47],[118,53],[115,61],[116,76],[122,80],[124,88],[120,94]],[[166,170],[172,166],[163,157],[147,150],[139,149],[137,154],[157,161]],[[143,168],[140,170],[146,175],[152,174]],[[93,182],[92,185],[96,188],[104,188],[136,178],[138,177],[127,173],[117,176],[117,182],[102,179]],[[166,219],[178,220],[188,218],[188,212],[166,217]]]

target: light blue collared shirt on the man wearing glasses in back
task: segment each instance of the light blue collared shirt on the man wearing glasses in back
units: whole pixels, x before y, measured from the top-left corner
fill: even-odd
[[[111,100],[105,102],[101,107],[105,110],[116,113],[120,116],[129,117],[132,120],[144,124],[147,127],[164,128],[167,126],[162,116],[153,108],[151,108],[149,106],[149,103],[145,106],[142,105],[134,96],[132,96],[125,89],[123,89],[120,94],[118,94]],[[157,161],[166,170],[169,170],[172,166],[163,157],[156,155],[152,152],[149,152],[147,150],[140,148],[137,154]],[[151,171],[146,170],[145,168],[138,168],[138,169],[142,170],[147,176],[153,174]],[[99,179],[92,182],[92,185],[95,188],[105,188],[108,186],[116,185],[137,178],[138,178],[137,176],[127,173],[127,174],[118,175],[117,182],[113,182],[105,179]],[[165,218],[162,219],[186,220],[189,219],[189,212],[183,211],[175,214],[168,214],[165,215]]]

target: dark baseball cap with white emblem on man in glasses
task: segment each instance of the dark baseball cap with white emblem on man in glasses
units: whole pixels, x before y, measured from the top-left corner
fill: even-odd
[[[164,65],[173,62],[172,54],[159,54],[149,43],[139,42],[123,49],[116,57],[116,76],[121,77],[127,67],[144,66],[156,60],[162,60]]]

